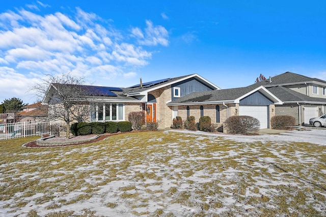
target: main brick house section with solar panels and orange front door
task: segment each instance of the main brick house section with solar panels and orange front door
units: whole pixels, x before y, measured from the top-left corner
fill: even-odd
[[[56,85],[51,84],[43,103],[49,105],[49,115],[56,116],[54,103],[57,100]],[[60,84],[62,85],[62,84]],[[177,107],[168,106],[181,97],[198,91],[220,89],[215,84],[198,74],[133,85],[128,88],[100,87],[83,85],[83,88],[94,90],[89,92],[92,98],[85,98],[85,106],[89,106],[89,121],[124,121],[132,111],[144,111],[146,121],[159,121],[159,128],[171,127],[172,120],[178,114]]]

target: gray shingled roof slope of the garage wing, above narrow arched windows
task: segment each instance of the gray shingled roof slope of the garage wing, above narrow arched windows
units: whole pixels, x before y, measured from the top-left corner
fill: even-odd
[[[202,92],[193,92],[187,96],[180,99],[174,100],[169,104],[175,103],[196,103],[196,102],[216,102],[216,101],[233,101],[239,97],[247,94],[256,87],[239,87],[231,89],[219,89],[219,90],[209,90]]]

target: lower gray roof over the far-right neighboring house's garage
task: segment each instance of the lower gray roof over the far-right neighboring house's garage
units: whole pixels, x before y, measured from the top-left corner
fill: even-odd
[[[326,99],[308,97],[300,92],[288,89],[283,86],[267,87],[267,89],[277,96],[283,102],[323,102],[326,103]]]

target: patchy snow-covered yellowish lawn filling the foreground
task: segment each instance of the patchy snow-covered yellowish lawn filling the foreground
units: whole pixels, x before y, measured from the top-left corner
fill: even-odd
[[[182,131],[51,148],[0,141],[0,216],[325,216],[318,136],[315,144]]]

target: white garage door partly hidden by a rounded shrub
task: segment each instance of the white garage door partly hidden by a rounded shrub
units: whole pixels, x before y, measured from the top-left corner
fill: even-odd
[[[267,106],[240,106],[239,115],[256,117],[260,122],[260,129],[267,128]]]

